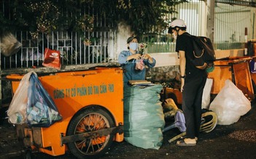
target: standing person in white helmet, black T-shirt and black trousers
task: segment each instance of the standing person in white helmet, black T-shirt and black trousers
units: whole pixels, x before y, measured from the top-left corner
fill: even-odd
[[[189,33],[186,32],[184,20],[174,20],[168,29],[176,40],[176,52],[179,54],[181,75],[182,111],[186,121],[186,137],[177,142],[178,146],[193,146],[198,140],[201,125],[201,104],[203,87],[206,83],[206,70],[195,68],[193,59],[193,44]]]

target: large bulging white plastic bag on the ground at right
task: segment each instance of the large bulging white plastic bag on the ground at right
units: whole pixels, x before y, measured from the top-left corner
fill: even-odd
[[[245,115],[250,109],[249,99],[230,80],[225,81],[225,86],[210,105],[210,110],[217,114],[219,125],[236,123],[241,115]]]

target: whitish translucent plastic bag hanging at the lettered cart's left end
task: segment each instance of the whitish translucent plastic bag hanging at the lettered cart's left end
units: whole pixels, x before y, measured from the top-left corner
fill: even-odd
[[[18,89],[15,91],[14,96],[12,97],[12,102],[9,105],[7,110],[7,116],[9,123],[22,124],[26,123],[26,107],[28,102],[28,86],[29,78],[31,76],[30,72],[27,73],[21,79]]]

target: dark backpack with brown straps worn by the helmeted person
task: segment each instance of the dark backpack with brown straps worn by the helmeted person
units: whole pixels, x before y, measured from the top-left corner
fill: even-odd
[[[190,59],[196,68],[212,72],[216,60],[212,41],[204,36],[191,36],[194,58]]]

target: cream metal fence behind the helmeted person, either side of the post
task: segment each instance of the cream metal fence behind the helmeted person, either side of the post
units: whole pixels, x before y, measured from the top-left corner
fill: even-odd
[[[244,49],[247,40],[255,38],[255,1],[217,0],[214,7],[215,49]],[[192,0],[176,6],[177,14],[166,15],[185,20],[187,32],[195,36],[206,36],[206,3]],[[247,32],[247,35],[245,35]],[[151,39],[148,52],[175,52],[175,42],[167,30],[162,33],[147,33]],[[153,37],[153,38],[152,38]],[[147,41],[145,41],[147,42]]]

